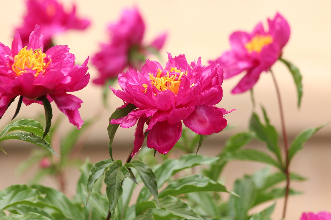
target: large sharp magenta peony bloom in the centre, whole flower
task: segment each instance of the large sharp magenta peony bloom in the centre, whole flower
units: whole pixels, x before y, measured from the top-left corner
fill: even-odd
[[[112,91],[116,96],[138,109],[127,116],[112,119],[112,124],[129,128],[137,123],[131,157],[138,152],[148,131],[147,147],[167,154],[182,133],[184,125],[197,134],[210,135],[223,130],[228,112],[214,107],[223,96],[223,70],[218,63],[203,68],[200,58],[189,65],[185,55],[172,58],[163,68],[156,61],[146,60],[139,71],[129,69],[118,74],[122,90]],[[121,108],[122,108],[121,107]]]

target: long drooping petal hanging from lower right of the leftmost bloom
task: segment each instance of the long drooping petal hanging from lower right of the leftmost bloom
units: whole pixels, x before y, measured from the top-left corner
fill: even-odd
[[[80,104],[83,103],[78,97],[71,94],[50,94],[54,99],[55,104],[58,106],[60,111],[62,111],[69,119],[69,122],[77,128],[80,128],[84,122],[80,117],[78,108]]]

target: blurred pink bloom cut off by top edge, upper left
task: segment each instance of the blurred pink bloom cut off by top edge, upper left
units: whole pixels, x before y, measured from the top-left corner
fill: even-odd
[[[16,29],[20,32],[22,45],[27,46],[29,35],[36,24],[40,25],[40,32],[44,34],[45,49],[50,48],[53,35],[69,29],[84,30],[90,25],[88,19],[78,18],[76,6],[67,13],[63,5],[56,0],[26,0],[27,14],[23,24]]]

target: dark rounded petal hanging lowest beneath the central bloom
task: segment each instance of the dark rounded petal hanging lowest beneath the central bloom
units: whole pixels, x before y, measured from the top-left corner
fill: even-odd
[[[177,143],[182,134],[181,121],[170,125],[166,121],[157,122],[147,135],[147,147],[167,154]]]

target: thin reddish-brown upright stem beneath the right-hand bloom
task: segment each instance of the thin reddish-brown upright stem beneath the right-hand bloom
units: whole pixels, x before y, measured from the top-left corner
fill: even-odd
[[[283,139],[284,139],[284,151],[285,151],[285,167],[283,168],[284,173],[286,175],[286,189],[285,189],[285,201],[284,201],[284,208],[283,208],[283,216],[282,218],[285,219],[286,215],[286,208],[287,208],[287,201],[289,196],[289,190],[290,190],[290,172],[289,172],[289,146],[288,146],[288,140],[287,140],[287,134],[285,129],[285,118],[284,118],[284,110],[282,105],[282,100],[280,98],[280,92],[279,87],[276,82],[276,78],[272,70],[269,70],[273,79],[273,82],[275,84],[276,92],[277,92],[277,98],[278,98],[278,104],[279,104],[279,112],[280,112],[280,121],[283,131]]]

